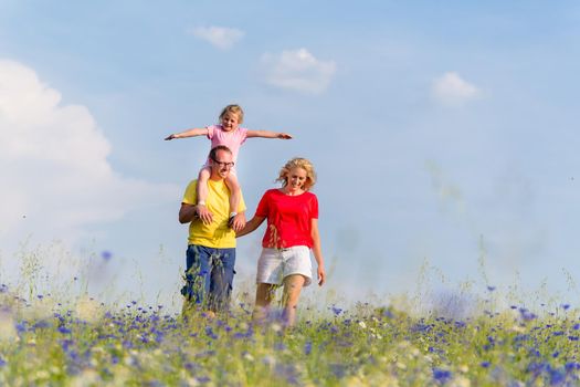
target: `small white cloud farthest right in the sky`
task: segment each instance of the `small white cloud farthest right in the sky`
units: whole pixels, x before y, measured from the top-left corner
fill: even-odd
[[[435,101],[447,106],[458,106],[479,96],[477,87],[463,80],[460,74],[449,72],[433,81],[431,94]]]

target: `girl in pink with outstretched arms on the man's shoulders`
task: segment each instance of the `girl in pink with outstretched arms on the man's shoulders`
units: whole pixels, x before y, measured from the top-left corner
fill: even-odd
[[[221,125],[211,125],[204,128],[192,128],[181,133],[172,134],[166,137],[166,140],[173,138],[186,138],[196,136],[208,136],[211,139],[211,148],[218,145],[225,145],[232,150],[233,163],[229,165],[232,168],[230,175],[225,179],[225,184],[232,194],[230,196],[230,219],[235,217],[238,213],[238,206],[240,203],[241,190],[238,177],[235,176],[235,169],[233,169],[238,159],[238,151],[241,145],[246,138],[251,137],[263,137],[263,138],[281,138],[291,139],[292,136],[286,133],[277,133],[270,130],[249,130],[240,127],[244,119],[244,112],[239,105],[228,105],[223,108],[220,114]],[[198,176],[198,206],[205,207],[205,199],[208,197],[208,179],[211,175],[211,168],[209,166],[209,158],[205,165],[201,168]],[[211,213],[209,211],[200,211],[200,218],[203,222],[211,222]]]

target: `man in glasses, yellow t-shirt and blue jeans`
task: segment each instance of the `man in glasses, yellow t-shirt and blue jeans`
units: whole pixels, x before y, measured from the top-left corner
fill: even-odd
[[[230,218],[230,190],[224,179],[233,167],[223,145],[210,151],[211,176],[204,206],[197,206],[197,180],[191,181],[179,209],[179,222],[189,224],[183,311],[200,304],[213,315],[228,308],[235,265],[235,232],[245,226],[245,203]]]

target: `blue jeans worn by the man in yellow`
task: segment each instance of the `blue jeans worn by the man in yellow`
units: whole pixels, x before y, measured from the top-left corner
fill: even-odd
[[[226,310],[235,274],[235,249],[190,244],[187,251],[186,285],[181,294],[211,311]]]

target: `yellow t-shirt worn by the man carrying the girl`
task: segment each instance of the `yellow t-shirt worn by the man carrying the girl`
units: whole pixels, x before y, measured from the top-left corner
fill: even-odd
[[[196,206],[198,180],[193,180],[186,188],[182,202]],[[199,219],[189,223],[189,244],[198,244],[213,249],[235,248],[235,231],[228,226],[230,217],[230,189],[223,180],[208,180],[208,198],[205,207],[213,213],[211,224],[203,224]],[[238,212],[245,211],[243,196],[240,198]]]

